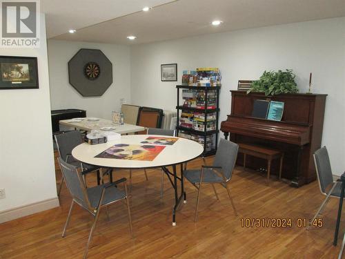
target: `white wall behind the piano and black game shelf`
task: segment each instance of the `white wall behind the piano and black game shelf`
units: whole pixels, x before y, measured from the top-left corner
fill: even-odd
[[[160,65],[177,63],[178,81],[161,82]],[[264,70],[291,68],[301,92],[328,94],[322,144],[334,174],[345,170],[345,18],[291,23],[190,37],[131,48],[132,103],[173,109],[182,70],[221,69],[220,121],[230,113],[230,89],[239,79],[257,79]]]

